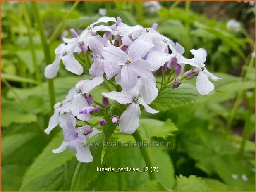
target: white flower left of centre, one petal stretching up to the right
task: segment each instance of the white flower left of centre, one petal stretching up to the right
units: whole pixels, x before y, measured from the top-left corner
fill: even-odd
[[[81,80],[77,83],[70,104],[72,114],[76,116],[77,119],[85,121],[90,118],[90,114],[79,114],[80,109],[89,106],[83,95],[88,94],[93,88],[100,85],[103,81],[103,77],[95,77],[92,80]]]

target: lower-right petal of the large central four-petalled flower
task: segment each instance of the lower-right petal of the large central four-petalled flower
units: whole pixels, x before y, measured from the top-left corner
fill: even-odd
[[[137,76],[150,78],[151,73],[151,66],[150,63],[148,63],[146,60],[136,60],[130,64],[130,66],[133,68],[133,70],[137,73]]]

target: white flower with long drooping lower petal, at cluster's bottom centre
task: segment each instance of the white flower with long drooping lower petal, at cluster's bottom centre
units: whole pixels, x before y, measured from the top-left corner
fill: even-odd
[[[142,82],[138,81],[136,86],[130,91],[123,90],[121,92],[112,91],[109,93],[102,93],[105,97],[116,100],[120,104],[129,104],[119,120],[119,128],[123,133],[132,134],[138,128],[139,117],[141,115],[139,104],[143,105],[145,111],[149,113],[155,114],[159,112],[149,107],[143,97],[138,98],[141,87]]]

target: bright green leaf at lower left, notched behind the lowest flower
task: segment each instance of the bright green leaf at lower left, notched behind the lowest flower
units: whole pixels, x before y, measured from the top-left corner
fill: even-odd
[[[53,140],[43,149],[43,152],[36,158],[33,164],[30,166],[26,174],[20,190],[30,189],[31,183],[38,180],[38,178],[50,173],[56,168],[61,167],[67,161],[74,157],[74,153],[70,150],[65,150],[62,153],[54,154],[53,149],[57,149],[63,141],[62,132],[58,133]]]

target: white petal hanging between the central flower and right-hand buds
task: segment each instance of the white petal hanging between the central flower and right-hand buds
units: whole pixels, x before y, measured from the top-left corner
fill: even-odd
[[[156,79],[152,75],[151,78],[141,77],[142,88],[141,96],[147,104],[150,104],[158,95],[158,88],[156,87]]]

